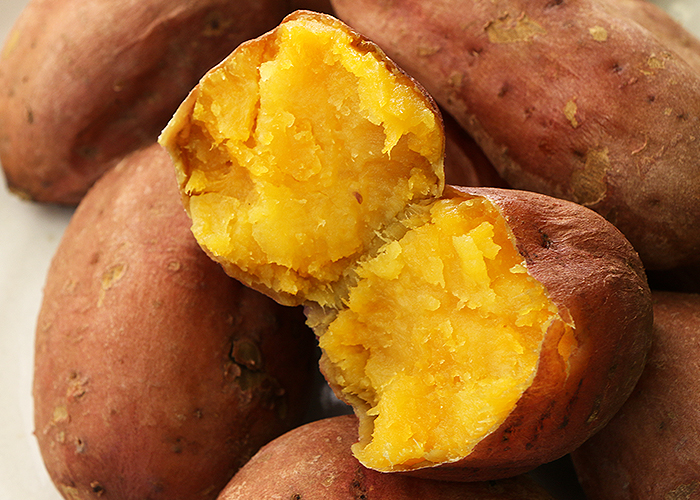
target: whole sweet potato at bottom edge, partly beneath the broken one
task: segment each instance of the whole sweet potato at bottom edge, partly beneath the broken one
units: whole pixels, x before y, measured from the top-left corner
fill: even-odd
[[[373,471],[352,455],[356,439],[351,415],[298,427],[262,448],[218,500],[552,500],[526,476],[465,484]]]

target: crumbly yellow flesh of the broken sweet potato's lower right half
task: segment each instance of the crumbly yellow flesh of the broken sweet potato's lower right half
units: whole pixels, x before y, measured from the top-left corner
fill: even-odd
[[[355,455],[379,470],[468,455],[532,383],[558,318],[486,199],[439,200],[405,224],[320,337],[366,412]]]

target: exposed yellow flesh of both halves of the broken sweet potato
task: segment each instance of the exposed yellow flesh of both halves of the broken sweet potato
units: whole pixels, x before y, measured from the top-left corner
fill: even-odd
[[[556,307],[491,202],[441,198],[439,118],[405,77],[329,22],[273,33],[161,137],[193,232],[233,276],[310,305],[366,466],[463,458],[531,385]]]

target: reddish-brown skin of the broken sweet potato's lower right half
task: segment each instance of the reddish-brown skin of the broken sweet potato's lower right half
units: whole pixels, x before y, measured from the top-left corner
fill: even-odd
[[[448,187],[445,197],[482,196],[501,211],[528,271],[547,289],[575,348],[559,354],[550,328],[537,375],[506,421],[463,460],[410,475],[459,481],[514,476],[562,457],[605,425],[631,393],[651,340],[651,292],[638,255],[595,212],[537,193]],[[332,369],[321,359],[324,373]],[[342,397],[342,391],[334,387]]]

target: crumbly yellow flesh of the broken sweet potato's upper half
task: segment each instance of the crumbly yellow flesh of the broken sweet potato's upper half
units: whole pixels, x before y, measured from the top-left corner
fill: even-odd
[[[199,242],[271,289],[332,301],[376,232],[444,185],[441,125],[397,78],[320,23],[239,48],[200,83],[181,145]]]

